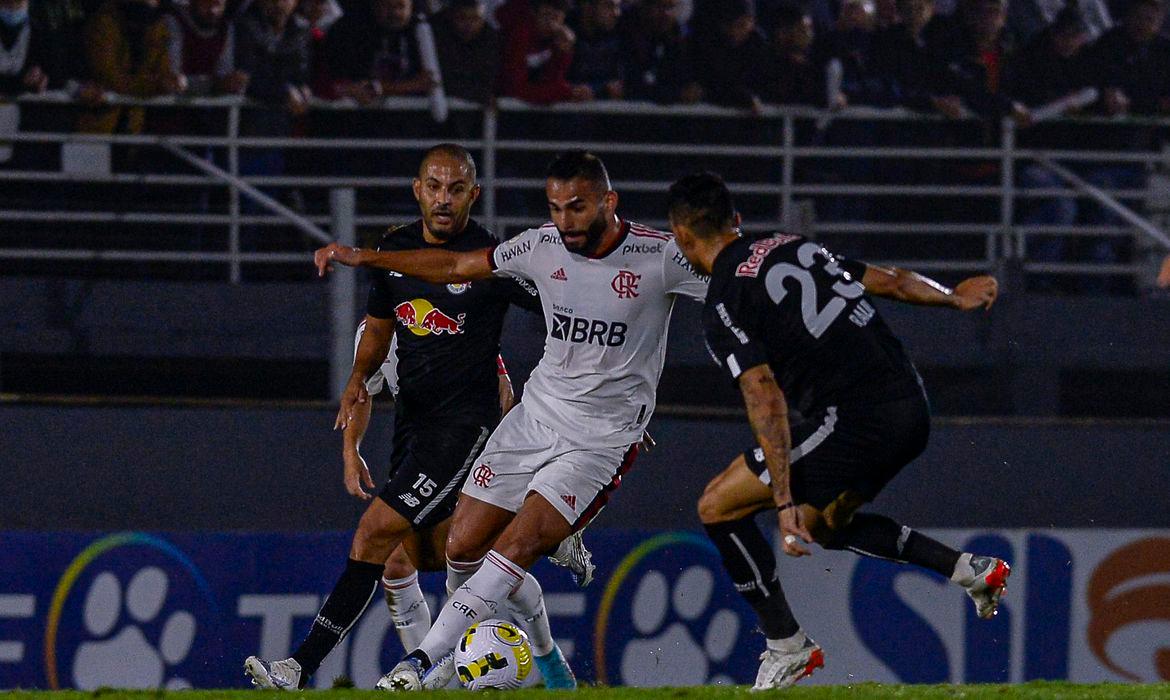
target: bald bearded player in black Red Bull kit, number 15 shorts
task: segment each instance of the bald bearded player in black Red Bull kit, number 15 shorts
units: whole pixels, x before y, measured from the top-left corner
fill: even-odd
[[[475,251],[497,242],[469,218],[480,186],[475,162],[461,146],[440,144],[428,150],[413,188],[421,219],[391,229],[380,249]],[[374,275],[365,331],[335,428],[345,431],[347,440],[357,437],[352,431],[364,428],[370,400],[366,380],[386,359],[394,336],[398,394],[390,479],[378,497],[370,500],[345,570],[292,657],[245,661],[245,671],[259,687],[304,687],[365,611],[387,557],[404,542],[418,553],[426,538],[420,543],[414,534],[450,517],[468,469],[500,421],[497,358],[504,313],[512,303],[541,309],[536,289],[514,279],[436,284],[385,270]],[[360,459],[345,460],[345,486],[353,495],[370,496],[365,489],[372,489],[373,481]],[[448,567],[477,564],[448,562]],[[514,597],[510,604],[524,619],[534,648],[537,640],[552,646],[552,656],[564,664],[549,631],[543,597]]]

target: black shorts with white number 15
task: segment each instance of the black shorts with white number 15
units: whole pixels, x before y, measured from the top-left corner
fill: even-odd
[[[395,419],[390,479],[378,497],[414,529],[446,520],[490,433],[480,425]]]

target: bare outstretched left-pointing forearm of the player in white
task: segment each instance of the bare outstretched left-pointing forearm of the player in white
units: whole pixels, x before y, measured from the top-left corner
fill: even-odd
[[[333,242],[317,248],[312,254],[317,275],[333,269],[333,265],[387,269],[427,282],[467,282],[491,276],[491,248],[479,251],[370,251]]]

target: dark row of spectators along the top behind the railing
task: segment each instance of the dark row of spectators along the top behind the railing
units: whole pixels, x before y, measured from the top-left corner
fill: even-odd
[[[0,0],[0,92],[369,104],[434,85],[428,22],[446,92],[477,102],[899,105],[1027,124],[1097,88],[1094,111],[1170,111],[1161,0],[427,1]],[[140,126],[118,110],[81,123]]]

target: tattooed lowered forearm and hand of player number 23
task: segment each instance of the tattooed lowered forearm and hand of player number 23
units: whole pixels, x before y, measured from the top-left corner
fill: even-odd
[[[789,479],[792,437],[789,433],[789,410],[784,392],[766,364],[756,365],[739,375],[739,391],[743,392],[743,402],[748,407],[751,432],[764,451],[764,462],[772,478],[772,499],[778,509],[780,534],[784,535],[784,551],[791,556],[810,554],[800,545],[800,541],[812,542],[812,535],[801,521],[800,509],[792,501]]]

